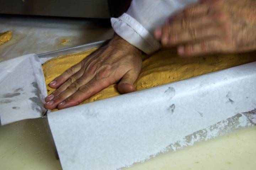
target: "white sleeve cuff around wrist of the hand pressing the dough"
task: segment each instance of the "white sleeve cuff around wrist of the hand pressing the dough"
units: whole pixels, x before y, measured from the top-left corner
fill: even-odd
[[[119,36],[146,54],[161,48],[161,44],[133,17],[124,13],[119,18],[111,18],[111,24]]]

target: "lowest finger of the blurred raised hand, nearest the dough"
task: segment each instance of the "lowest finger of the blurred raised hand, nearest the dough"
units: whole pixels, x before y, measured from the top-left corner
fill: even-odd
[[[223,51],[223,44],[219,40],[207,40],[195,44],[178,46],[178,54],[183,57],[206,55]]]

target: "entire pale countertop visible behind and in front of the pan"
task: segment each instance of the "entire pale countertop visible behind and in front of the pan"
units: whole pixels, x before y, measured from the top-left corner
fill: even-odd
[[[1,16],[0,32],[13,39],[0,46],[0,61],[28,53],[44,53],[109,39],[113,30],[99,20]],[[59,45],[61,39],[71,40]],[[256,167],[256,127],[167,152],[128,168],[131,170],[252,170]],[[0,169],[59,170],[43,118],[0,126]]]

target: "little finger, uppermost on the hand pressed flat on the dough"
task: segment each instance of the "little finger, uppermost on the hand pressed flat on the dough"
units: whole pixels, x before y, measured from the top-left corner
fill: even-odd
[[[78,72],[82,67],[82,63],[79,62],[73,67],[70,67],[67,69],[64,73],[62,73],[59,77],[55,78],[49,86],[56,89],[60,85],[62,85],[66,80],[68,80],[72,75],[74,75],[76,72]]]

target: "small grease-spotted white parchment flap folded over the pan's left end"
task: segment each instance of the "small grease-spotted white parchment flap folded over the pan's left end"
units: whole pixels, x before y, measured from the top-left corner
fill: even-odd
[[[22,119],[39,118],[47,96],[39,58],[35,54],[0,62],[1,125]]]

